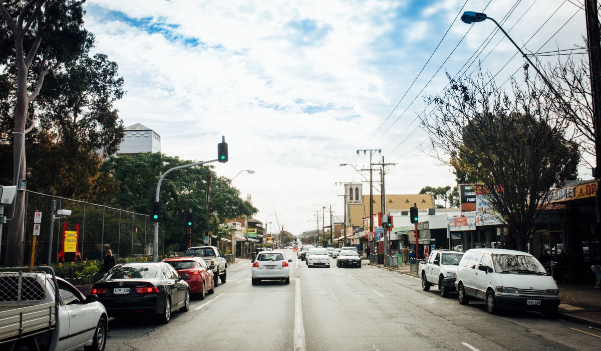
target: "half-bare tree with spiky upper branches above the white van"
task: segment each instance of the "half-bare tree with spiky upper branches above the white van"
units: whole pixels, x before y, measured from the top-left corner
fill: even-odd
[[[525,78],[524,87],[513,80],[507,93],[483,73],[449,77],[444,94],[429,98],[435,112],[422,118],[445,155],[439,160],[480,185],[520,250],[552,189],[575,179],[580,158],[569,125],[555,114],[560,102]]]

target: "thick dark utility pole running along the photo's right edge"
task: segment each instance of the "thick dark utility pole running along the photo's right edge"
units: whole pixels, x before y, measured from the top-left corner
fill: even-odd
[[[593,107],[593,123],[595,133],[595,169],[593,176],[597,179],[596,214],[597,223],[601,223],[601,45],[599,34],[599,14],[597,13],[597,0],[585,0],[585,13],[587,16],[587,46],[588,67],[591,79],[591,100]]]

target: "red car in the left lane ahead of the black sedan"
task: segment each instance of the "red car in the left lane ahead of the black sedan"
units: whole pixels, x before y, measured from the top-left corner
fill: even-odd
[[[207,267],[207,264],[200,257],[172,257],[165,258],[163,262],[171,264],[179,275],[183,273],[188,275],[185,279],[190,285],[190,293],[198,294],[201,300],[204,300],[206,293],[215,293],[215,285],[213,284],[213,266]]]

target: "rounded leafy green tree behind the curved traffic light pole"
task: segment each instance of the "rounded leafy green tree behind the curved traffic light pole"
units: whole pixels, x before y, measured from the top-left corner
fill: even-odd
[[[147,152],[108,158],[100,169],[103,176],[113,178],[119,184],[119,191],[112,199],[113,205],[130,208],[137,213],[148,213],[160,176],[173,167],[191,163],[194,161]],[[211,178],[209,207],[208,176]],[[159,198],[162,202],[160,227],[165,231],[165,245],[179,244],[178,250],[188,245],[185,216],[189,209],[194,214],[193,241],[208,232],[221,238],[225,233],[221,226],[225,220],[239,216],[251,217],[257,213],[257,208],[242,200],[240,191],[231,187],[231,180],[217,177],[210,166],[195,166],[169,173],[163,179]]]

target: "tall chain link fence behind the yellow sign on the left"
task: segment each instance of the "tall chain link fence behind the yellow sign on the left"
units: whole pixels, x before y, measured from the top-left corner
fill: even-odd
[[[121,210],[85,201],[65,199],[63,197],[49,196],[46,194],[25,191],[25,223],[23,234],[23,265],[31,263],[34,215],[36,211],[42,213],[40,234],[36,238],[34,265],[50,262],[72,262],[102,260],[106,250],[110,249],[117,258],[144,258],[153,253],[154,228],[146,214]],[[55,219],[53,232],[50,233],[50,201],[56,200],[56,210],[71,210],[70,216],[65,219]],[[12,206],[6,206],[5,216],[10,218]],[[63,228],[67,231],[76,231],[79,234],[76,240],[76,252],[64,253],[64,258],[59,253],[63,250]],[[160,229],[160,227],[159,227]],[[8,243],[8,223],[2,228],[2,242],[0,243],[1,260],[4,263]],[[49,242],[52,239],[52,252],[49,252]],[[159,255],[165,253],[165,235],[159,230]],[[79,253],[79,256],[76,256]]]

